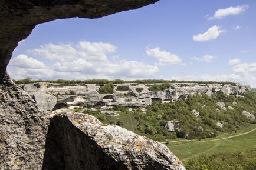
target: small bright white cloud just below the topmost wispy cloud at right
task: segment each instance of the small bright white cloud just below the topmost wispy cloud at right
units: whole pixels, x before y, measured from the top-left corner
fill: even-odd
[[[224,29],[221,29],[219,26],[214,25],[211,28],[209,28],[208,31],[202,34],[199,33],[198,35],[194,35],[193,41],[209,41],[212,39],[216,39],[223,32],[225,32]]]

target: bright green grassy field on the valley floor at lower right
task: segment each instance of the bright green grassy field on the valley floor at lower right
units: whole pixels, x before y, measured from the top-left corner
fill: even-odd
[[[211,155],[225,151],[244,151],[250,148],[256,148],[256,130],[234,138],[212,141],[215,139],[227,138],[238,134],[251,131],[256,128],[256,124],[251,124],[247,128],[236,134],[222,134],[217,138],[204,139],[201,141],[173,141],[166,144],[170,151],[179,157],[186,164],[186,161],[201,154]]]

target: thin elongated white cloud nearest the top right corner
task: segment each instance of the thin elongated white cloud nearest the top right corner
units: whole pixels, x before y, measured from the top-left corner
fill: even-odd
[[[212,19],[222,19],[225,18],[228,15],[238,15],[241,14],[241,12],[244,12],[246,9],[249,8],[249,5],[241,5],[241,6],[230,6],[228,8],[218,9],[215,11],[214,16],[209,17],[209,20]]]

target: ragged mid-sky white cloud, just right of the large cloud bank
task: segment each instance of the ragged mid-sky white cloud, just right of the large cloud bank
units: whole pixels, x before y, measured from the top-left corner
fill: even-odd
[[[180,59],[179,56],[165,50],[161,51],[160,47],[153,49],[147,48],[146,54],[157,59],[156,65],[179,64],[182,62],[182,59]]]

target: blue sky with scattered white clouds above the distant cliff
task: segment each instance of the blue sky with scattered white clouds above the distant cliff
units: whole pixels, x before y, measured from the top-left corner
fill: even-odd
[[[232,81],[256,88],[256,1],[160,0],[99,19],[37,25],[12,79]]]

